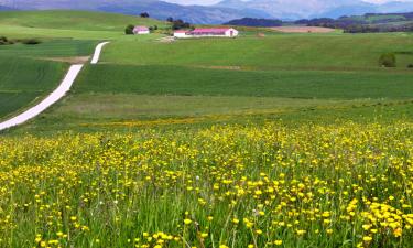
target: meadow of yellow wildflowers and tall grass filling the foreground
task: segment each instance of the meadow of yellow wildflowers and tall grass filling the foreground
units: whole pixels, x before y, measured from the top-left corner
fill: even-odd
[[[413,125],[0,140],[0,247],[413,247]]]

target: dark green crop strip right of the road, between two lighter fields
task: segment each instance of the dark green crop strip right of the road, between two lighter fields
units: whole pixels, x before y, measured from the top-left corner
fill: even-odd
[[[88,66],[76,93],[264,96],[287,98],[411,98],[412,73],[229,71],[178,66]]]

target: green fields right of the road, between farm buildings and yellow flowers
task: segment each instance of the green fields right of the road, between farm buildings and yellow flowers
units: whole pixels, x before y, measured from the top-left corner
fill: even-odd
[[[21,130],[90,131],[111,129],[106,125],[112,122],[194,117],[210,123],[208,116],[222,115],[211,119],[293,119],[291,114],[314,120],[307,112],[313,108],[327,121],[335,109],[345,119],[374,118],[377,109],[398,118],[391,106],[400,101],[407,103],[399,107],[400,117],[410,112],[409,34],[243,34],[173,43],[133,39],[113,40],[99,65],[85,67],[66,100]],[[378,66],[385,52],[398,53],[396,68]],[[320,109],[333,110],[325,115]]]

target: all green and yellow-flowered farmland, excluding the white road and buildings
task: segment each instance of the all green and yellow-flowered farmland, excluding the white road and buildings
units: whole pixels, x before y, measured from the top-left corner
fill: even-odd
[[[42,40],[0,46],[0,118],[110,41],[0,133],[0,247],[412,247],[412,34],[165,42],[134,19],[0,13]]]

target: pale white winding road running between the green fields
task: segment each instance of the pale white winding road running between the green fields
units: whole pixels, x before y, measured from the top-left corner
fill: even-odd
[[[96,46],[95,54],[94,54],[94,57],[91,58],[90,64],[97,64],[99,62],[101,50],[109,42],[102,42]],[[28,120],[35,118],[36,116],[42,114],[44,110],[46,110],[48,107],[51,107],[52,105],[57,103],[59,99],[62,99],[62,97],[64,97],[67,94],[67,91],[70,90],[73,83],[76,80],[83,67],[84,67],[84,64],[72,65],[65,78],[61,83],[61,85],[53,93],[51,93],[45,99],[43,99],[36,106],[31,107],[24,112],[15,117],[12,117],[9,120],[1,122],[0,131],[22,125],[26,122]]]

